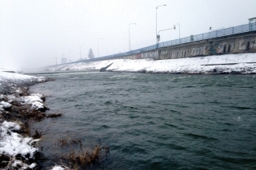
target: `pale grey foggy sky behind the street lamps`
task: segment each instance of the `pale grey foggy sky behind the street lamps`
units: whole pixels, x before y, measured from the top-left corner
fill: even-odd
[[[181,38],[239,26],[256,17],[256,0],[0,0],[0,68],[33,69],[155,44],[158,30],[180,24]],[[161,33],[161,42],[178,38]],[[98,38],[104,38],[99,40]],[[126,39],[124,39],[126,38]],[[99,44],[99,45],[98,45]],[[104,45],[104,46],[103,46]]]

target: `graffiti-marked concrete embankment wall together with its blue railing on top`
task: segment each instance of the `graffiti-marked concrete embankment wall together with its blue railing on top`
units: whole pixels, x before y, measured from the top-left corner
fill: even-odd
[[[256,19],[255,19],[256,20]],[[256,53],[256,22],[205,34],[191,35],[155,45],[115,53],[104,57],[73,61],[92,62],[111,59],[175,59],[182,57],[208,56],[222,53]],[[66,65],[62,64],[62,65]]]

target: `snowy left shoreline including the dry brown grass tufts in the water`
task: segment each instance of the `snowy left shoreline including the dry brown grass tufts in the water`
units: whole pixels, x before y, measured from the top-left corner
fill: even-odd
[[[6,78],[8,77],[8,78]],[[0,72],[0,168],[13,169],[41,169],[43,158],[42,148],[35,144],[42,139],[42,131],[33,129],[33,124],[46,118],[62,117],[62,113],[46,113],[46,97],[41,93],[30,93],[31,85],[53,81],[46,77],[31,77],[18,73]],[[6,88],[6,89],[5,89]],[[80,139],[69,139],[66,136],[58,141],[57,149],[62,147],[81,147]],[[108,147],[95,148],[79,152],[72,151],[61,162],[54,163],[47,169],[71,170],[80,167],[96,165],[102,159],[102,151],[109,151]],[[64,162],[64,163],[63,163]],[[72,164],[70,162],[73,162]],[[66,165],[66,164],[67,165]]]

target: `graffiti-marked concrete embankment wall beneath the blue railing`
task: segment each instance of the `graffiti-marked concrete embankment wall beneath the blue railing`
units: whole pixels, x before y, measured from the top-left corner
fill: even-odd
[[[175,59],[224,53],[256,53],[256,31],[211,38],[198,42],[188,42],[180,45],[171,45],[130,56],[115,57],[113,59]]]

